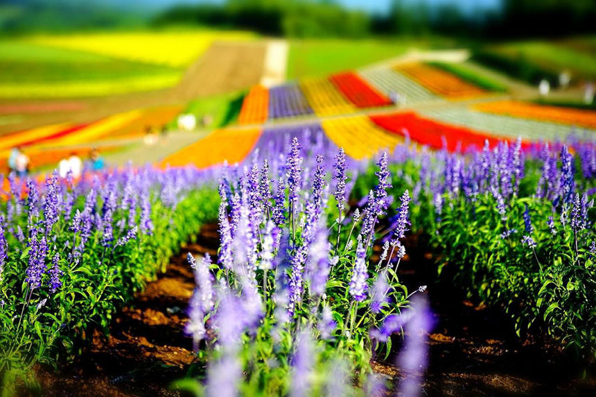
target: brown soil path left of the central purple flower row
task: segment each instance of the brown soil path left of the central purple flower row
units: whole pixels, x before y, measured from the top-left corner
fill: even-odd
[[[179,396],[171,382],[193,362],[192,340],[183,333],[195,286],[186,253],[216,255],[216,225],[182,247],[166,273],[112,320],[109,337],[96,333],[91,347],[54,373],[38,368],[42,396]]]

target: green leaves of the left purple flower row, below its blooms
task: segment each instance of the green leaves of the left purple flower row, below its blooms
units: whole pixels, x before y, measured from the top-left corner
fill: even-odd
[[[78,203],[78,208],[82,203]],[[56,240],[48,257],[60,255],[62,287],[52,293],[46,286],[31,288],[26,280],[30,249],[6,234],[10,249],[0,279],[0,378],[10,389],[15,381],[35,383],[30,369],[36,362],[56,364],[89,342],[94,329],[109,333],[115,311],[130,301],[147,281],[164,270],[180,244],[195,235],[216,214],[217,196],[212,189],[189,192],[173,209],[154,195],[152,234],[140,234],[121,246],[106,248],[95,230],[76,262],[69,259],[80,235],[61,218],[53,226]],[[117,210],[114,221],[127,219]],[[139,216],[139,215],[137,215]],[[21,219],[25,228],[26,218]],[[51,264],[47,266],[51,267]]]

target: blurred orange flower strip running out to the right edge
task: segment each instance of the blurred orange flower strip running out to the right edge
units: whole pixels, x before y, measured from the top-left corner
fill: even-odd
[[[574,124],[596,129],[596,111],[532,104],[519,101],[499,101],[477,104],[474,109],[485,113]]]

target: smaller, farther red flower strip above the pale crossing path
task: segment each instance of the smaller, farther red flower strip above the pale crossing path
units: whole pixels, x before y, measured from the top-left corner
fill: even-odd
[[[353,72],[331,75],[329,80],[357,107],[381,107],[391,104],[391,100],[371,87]]]

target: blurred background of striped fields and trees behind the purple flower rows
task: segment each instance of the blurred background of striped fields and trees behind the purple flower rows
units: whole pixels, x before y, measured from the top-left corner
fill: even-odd
[[[91,147],[163,164],[222,128],[378,136],[379,113],[438,135],[592,131],[595,16],[583,0],[4,1],[1,169],[17,146],[37,170]]]

